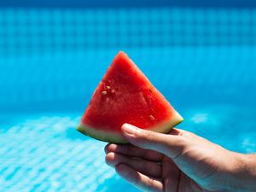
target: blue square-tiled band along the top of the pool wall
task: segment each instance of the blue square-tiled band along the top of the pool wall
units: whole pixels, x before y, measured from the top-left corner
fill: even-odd
[[[256,9],[0,9],[0,54],[255,45]]]

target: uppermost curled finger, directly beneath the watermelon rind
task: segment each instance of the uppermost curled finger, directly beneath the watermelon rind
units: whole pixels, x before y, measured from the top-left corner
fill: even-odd
[[[163,158],[163,154],[160,154],[156,151],[152,151],[144,148],[138,148],[130,144],[117,145],[117,144],[110,143],[106,145],[105,152],[106,154],[109,152],[114,152],[118,154],[124,154],[130,157],[138,157],[144,160],[151,160],[156,162],[160,162],[160,160],[162,160]]]

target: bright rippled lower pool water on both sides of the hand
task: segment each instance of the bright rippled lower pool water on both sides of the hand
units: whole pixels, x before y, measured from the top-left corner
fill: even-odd
[[[256,151],[255,111],[235,106],[185,108],[179,125],[232,150]],[[105,143],[75,130],[80,116],[15,117],[0,131],[1,191],[137,191],[105,165]],[[8,129],[5,129],[8,127]]]

